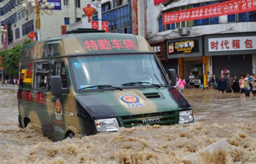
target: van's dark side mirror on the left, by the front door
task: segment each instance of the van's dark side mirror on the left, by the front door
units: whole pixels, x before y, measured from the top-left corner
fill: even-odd
[[[61,95],[62,93],[61,76],[50,76],[49,85],[50,85],[52,95]]]

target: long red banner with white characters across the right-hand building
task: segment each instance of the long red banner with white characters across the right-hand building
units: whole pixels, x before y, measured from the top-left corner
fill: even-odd
[[[232,0],[163,14],[163,25],[256,10],[256,0]]]

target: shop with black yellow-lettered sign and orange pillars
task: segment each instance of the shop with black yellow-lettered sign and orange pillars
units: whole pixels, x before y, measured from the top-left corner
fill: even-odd
[[[208,71],[207,57],[203,56],[202,37],[183,37],[166,42],[167,61],[177,62],[177,75],[188,79],[192,71],[196,85],[202,84],[203,76]]]

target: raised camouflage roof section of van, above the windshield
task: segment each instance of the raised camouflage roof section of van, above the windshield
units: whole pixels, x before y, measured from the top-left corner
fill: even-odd
[[[32,50],[30,50],[32,49]],[[26,44],[21,59],[53,56],[152,53],[144,37],[120,33],[72,33]]]

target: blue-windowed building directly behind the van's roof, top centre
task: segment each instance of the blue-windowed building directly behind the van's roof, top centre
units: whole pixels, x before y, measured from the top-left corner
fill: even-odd
[[[91,0],[91,7],[96,8],[91,16],[92,21],[100,20],[95,0]],[[147,32],[147,0],[102,0],[102,21],[108,21],[108,31],[135,34],[145,37]],[[84,15],[80,22],[69,25],[69,29],[91,28],[91,24]]]

